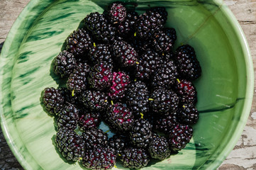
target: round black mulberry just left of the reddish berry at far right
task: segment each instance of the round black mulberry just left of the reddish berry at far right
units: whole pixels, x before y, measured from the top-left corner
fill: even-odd
[[[153,91],[150,98],[152,98],[152,101],[150,101],[152,111],[162,115],[174,113],[179,105],[179,97],[177,94],[168,89],[156,89]]]

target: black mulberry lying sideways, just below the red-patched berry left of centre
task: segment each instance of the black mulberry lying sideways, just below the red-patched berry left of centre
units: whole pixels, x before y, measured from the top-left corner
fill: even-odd
[[[108,96],[102,91],[83,91],[79,101],[91,111],[105,111],[108,106]]]

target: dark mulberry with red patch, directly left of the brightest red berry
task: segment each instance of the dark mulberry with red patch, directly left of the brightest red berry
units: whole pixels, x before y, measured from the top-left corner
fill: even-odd
[[[89,84],[99,91],[103,91],[111,86],[113,79],[112,66],[107,62],[101,61],[91,67],[89,74]]]

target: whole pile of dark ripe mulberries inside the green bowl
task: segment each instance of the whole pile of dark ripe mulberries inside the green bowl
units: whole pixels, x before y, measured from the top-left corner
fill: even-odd
[[[103,13],[83,16],[53,55],[51,75],[60,84],[42,89],[42,106],[55,117],[57,152],[86,169],[117,162],[142,169],[169,159],[187,146],[190,125],[200,120],[198,49],[180,42],[186,38],[177,37],[177,25],[165,25],[165,7],[137,13],[145,8],[106,4]]]

